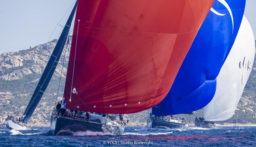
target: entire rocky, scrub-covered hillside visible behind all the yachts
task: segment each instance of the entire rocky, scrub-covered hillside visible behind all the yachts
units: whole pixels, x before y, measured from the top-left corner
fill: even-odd
[[[52,40],[30,49],[0,55],[0,126],[5,125],[7,114],[15,114],[16,116],[22,115],[56,43],[57,40]],[[66,55],[64,58],[65,50]],[[67,46],[67,49],[64,48],[58,67],[46,90],[46,94],[41,99],[29,121],[31,126],[50,125],[50,116],[55,100],[57,97],[61,99],[63,95],[69,51],[70,44]],[[62,64],[64,66],[61,74]],[[253,67],[243,96],[237,107],[236,114],[226,122],[256,123],[256,61],[254,61]],[[60,91],[57,96],[59,80]],[[125,116],[126,119],[129,118],[131,120],[130,125],[143,126],[146,123],[150,111],[151,110],[145,110],[140,113]],[[194,112],[193,115],[180,114],[176,116],[185,116],[188,118],[187,120],[193,121],[195,116],[202,116],[202,113],[202,110],[198,110]]]

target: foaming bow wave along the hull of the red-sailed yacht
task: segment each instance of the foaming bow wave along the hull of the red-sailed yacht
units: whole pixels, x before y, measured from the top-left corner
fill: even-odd
[[[73,136],[103,136],[103,135],[114,135],[112,133],[93,132],[93,131],[77,131],[72,132],[70,130],[60,130],[56,135],[73,135]]]

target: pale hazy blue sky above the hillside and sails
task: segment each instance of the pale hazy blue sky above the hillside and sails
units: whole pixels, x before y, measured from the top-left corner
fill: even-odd
[[[0,54],[47,42],[56,24],[74,2],[75,0],[1,0]],[[65,24],[70,11],[60,22],[61,25]],[[256,38],[256,0],[246,0],[244,15]],[[61,29],[61,26],[57,26],[50,41]]]

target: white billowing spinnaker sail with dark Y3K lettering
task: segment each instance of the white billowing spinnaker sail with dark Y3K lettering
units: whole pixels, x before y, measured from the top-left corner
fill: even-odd
[[[225,121],[233,116],[251,73],[254,55],[252,27],[244,16],[234,45],[217,77],[215,95],[204,107],[206,121]]]

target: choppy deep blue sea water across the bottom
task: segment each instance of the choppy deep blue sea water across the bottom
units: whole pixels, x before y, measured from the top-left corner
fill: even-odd
[[[0,146],[256,146],[256,127],[216,127],[188,130],[126,127],[123,135],[76,132],[52,136],[49,128],[8,130],[0,128]]]

